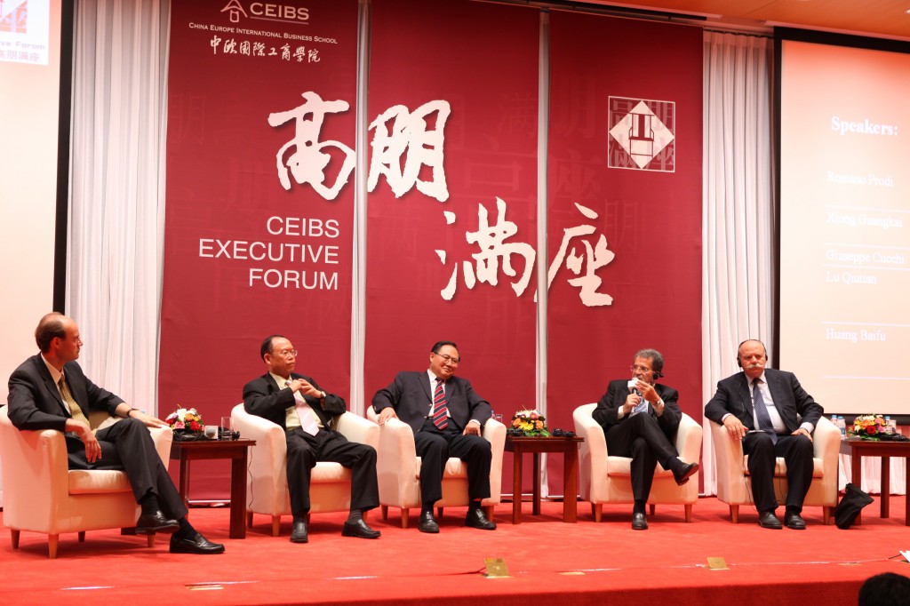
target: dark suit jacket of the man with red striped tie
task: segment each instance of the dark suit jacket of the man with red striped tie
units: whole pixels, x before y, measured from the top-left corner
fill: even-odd
[[[477,395],[468,379],[452,377],[446,381],[445,390],[451,420],[455,421],[459,429],[464,429],[471,420],[483,425],[490,419],[490,402]],[[398,418],[417,433],[430,414],[432,401],[427,371],[405,371],[399,372],[389,387],[376,392],[373,396],[373,409],[377,413],[389,407],[395,409]]]

